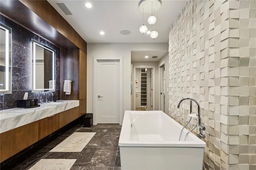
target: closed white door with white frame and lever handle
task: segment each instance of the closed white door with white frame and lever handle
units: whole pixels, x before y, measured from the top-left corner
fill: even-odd
[[[93,124],[122,123],[122,57],[94,57]]]

